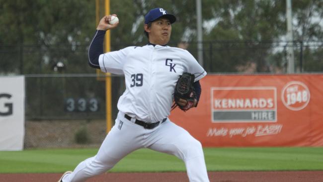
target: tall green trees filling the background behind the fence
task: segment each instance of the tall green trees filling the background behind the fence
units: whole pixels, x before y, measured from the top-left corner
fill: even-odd
[[[64,73],[93,73],[83,63],[96,26],[94,0],[0,0],[0,4],[2,73],[54,73],[59,61],[66,66]],[[322,4],[292,1],[295,41],[322,40]],[[187,49],[197,57],[195,0],[110,0],[110,12],[120,19],[119,27],[111,31],[111,50],[146,44],[144,15],[154,7],[177,17],[169,45],[188,42]],[[284,50],[276,42],[285,40],[285,0],[202,0],[202,11],[208,72],[237,72],[250,63],[256,64],[257,72],[271,71],[268,65],[284,66]],[[300,55],[300,47],[295,51]]]

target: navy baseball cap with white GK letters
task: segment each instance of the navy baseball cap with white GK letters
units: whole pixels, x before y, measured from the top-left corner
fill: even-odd
[[[154,9],[151,9],[146,15],[145,15],[145,24],[148,24],[150,22],[153,22],[157,20],[158,18],[167,18],[169,19],[170,23],[173,23],[176,21],[176,17],[172,14],[168,14],[166,10],[164,10],[161,7],[157,7]]]

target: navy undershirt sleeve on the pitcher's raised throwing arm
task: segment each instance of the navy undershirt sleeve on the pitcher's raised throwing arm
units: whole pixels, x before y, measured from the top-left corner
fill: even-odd
[[[99,56],[103,54],[104,30],[96,30],[88,48],[88,64],[92,68],[100,69]]]

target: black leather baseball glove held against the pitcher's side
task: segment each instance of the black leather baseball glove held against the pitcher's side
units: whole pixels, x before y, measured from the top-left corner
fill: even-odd
[[[183,111],[187,111],[193,107],[195,98],[194,79],[195,76],[187,72],[179,77],[174,91],[174,104],[172,105],[172,109],[178,106]],[[187,104],[180,104],[179,99],[186,100]]]

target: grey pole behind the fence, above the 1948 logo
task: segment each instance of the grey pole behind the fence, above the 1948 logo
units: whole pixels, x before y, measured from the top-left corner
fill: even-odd
[[[287,21],[287,73],[294,73],[294,43],[293,43],[293,24],[292,24],[292,2],[286,0],[286,21]]]

